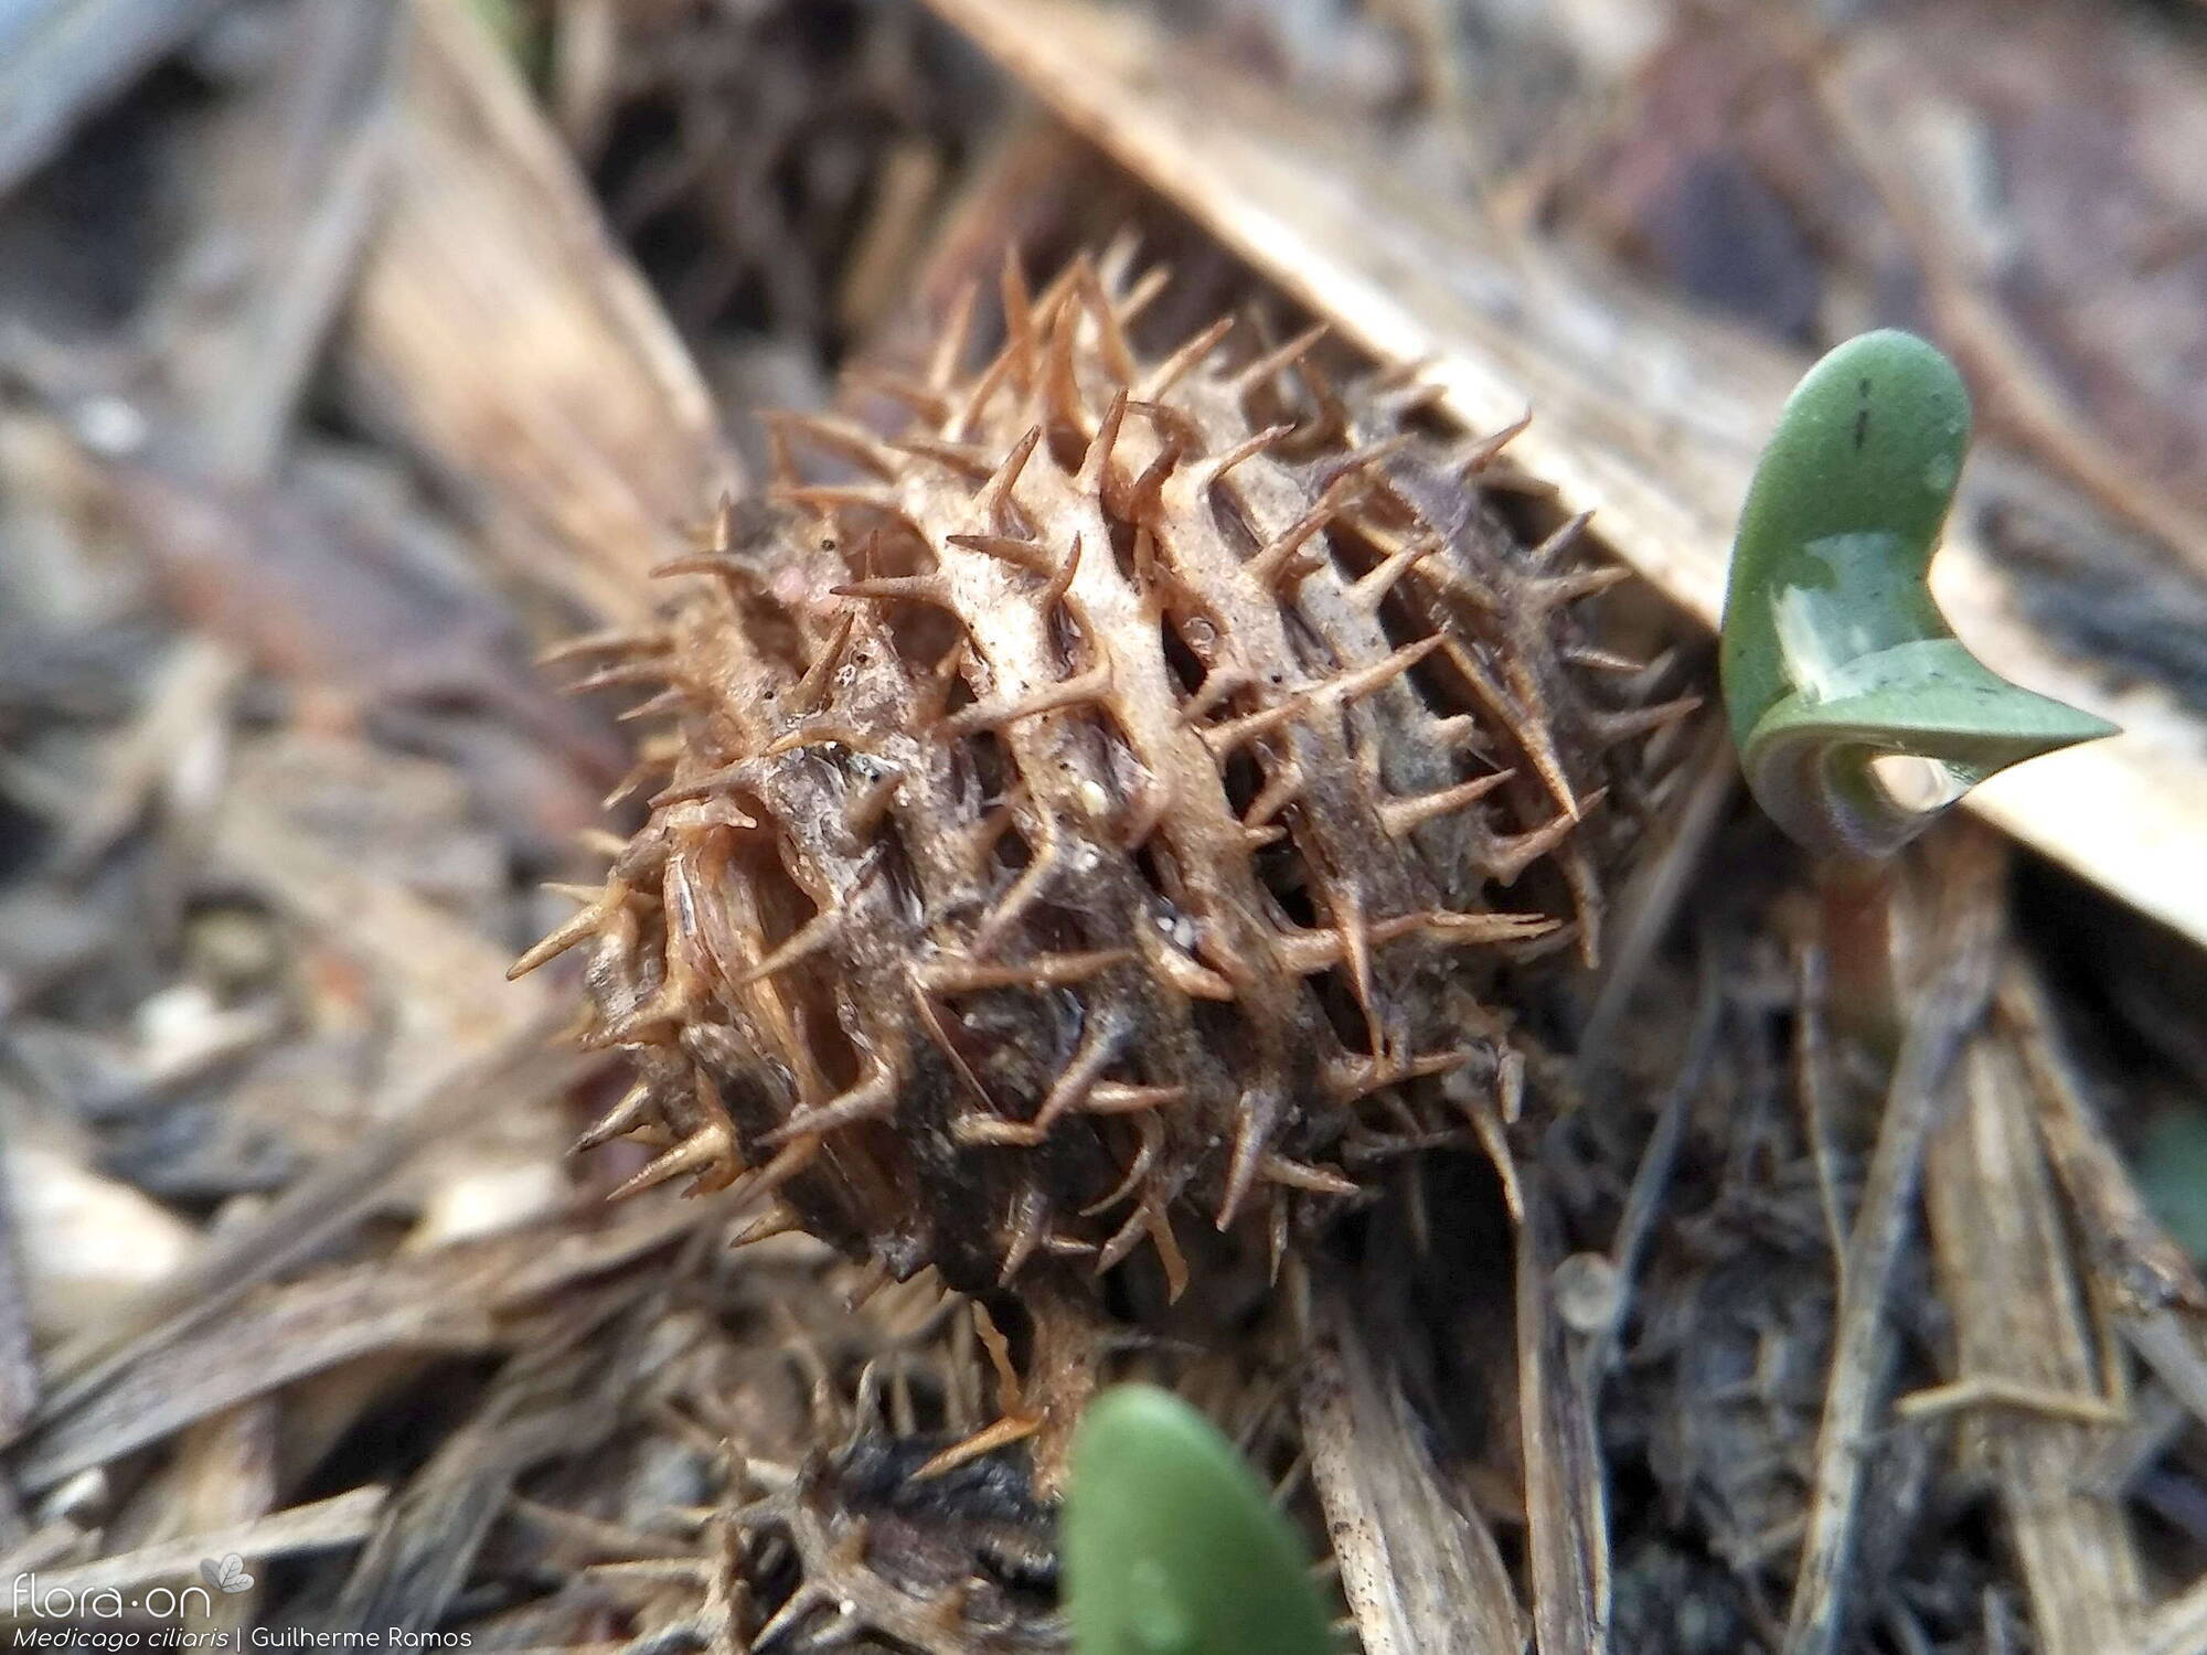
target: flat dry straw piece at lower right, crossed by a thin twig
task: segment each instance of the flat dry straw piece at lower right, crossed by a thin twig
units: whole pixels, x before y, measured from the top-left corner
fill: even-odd
[[[1925,1196],[1955,1317],[1955,1384],[2099,1403],[2110,1353],[2094,1337],[2039,1136],[2015,1103],[2022,1095],[2013,1044],[1980,1035],[1962,1068],[1962,1108],[1929,1150]],[[2090,1483],[2112,1430],[2046,1406],[1995,1403],[1969,1434],[2000,1487],[2037,1646],[2121,1648],[2143,1580],[2121,1498]]]

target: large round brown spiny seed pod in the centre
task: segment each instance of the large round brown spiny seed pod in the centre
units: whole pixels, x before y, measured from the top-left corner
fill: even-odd
[[[585,1143],[662,1145],[633,1185],[772,1189],[757,1234],[967,1291],[1148,1240],[1179,1291],[1176,1220],[1278,1260],[1461,1134],[1439,1077],[1492,1083],[1501,967],[1591,958],[1640,737],[1691,706],[1582,624],[1622,569],[1521,543],[1507,433],[1410,435],[1315,335],[1143,357],[1161,285],[1009,274],[987,366],[967,305],[881,386],[900,430],[781,419],[770,499],[673,565],[708,585],[569,651],[673,722],[516,967],[589,944],[638,1079]]]

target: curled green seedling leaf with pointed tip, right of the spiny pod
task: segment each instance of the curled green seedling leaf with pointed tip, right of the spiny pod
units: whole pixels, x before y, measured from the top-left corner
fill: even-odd
[[[2011,764],[2114,735],[1993,673],[1931,600],[1969,452],[1933,344],[1865,333],[1785,402],[1724,605],[1724,700],[1748,788],[1821,854],[1889,856]]]

